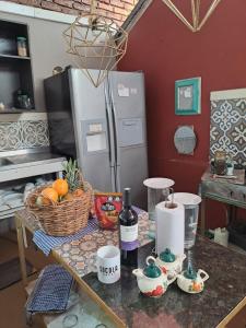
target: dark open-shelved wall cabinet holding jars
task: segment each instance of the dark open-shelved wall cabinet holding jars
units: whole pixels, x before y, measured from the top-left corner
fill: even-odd
[[[17,37],[26,40],[25,57],[19,56]],[[31,109],[21,108],[17,104],[17,92],[30,97]],[[0,20],[0,103],[4,104],[4,110],[0,113],[35,108],[28,26],[3,20]]]

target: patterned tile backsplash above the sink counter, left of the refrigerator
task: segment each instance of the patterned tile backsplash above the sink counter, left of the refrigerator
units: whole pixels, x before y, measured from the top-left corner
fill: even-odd
[[[0,151],[48,147],[47,120],[0,121]]]

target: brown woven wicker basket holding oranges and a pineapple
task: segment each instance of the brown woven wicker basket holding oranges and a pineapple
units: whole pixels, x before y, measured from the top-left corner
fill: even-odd
[[[37,206],[36,199],[40,196],[44,186],[35,189],[26,199],[26,208],[37,218],[46,234],[51,236],[67,236],[75,234],[87,225],[89,213],[92,208],[92,187],[83,183],[85,191],[73,196],[72,200]]]

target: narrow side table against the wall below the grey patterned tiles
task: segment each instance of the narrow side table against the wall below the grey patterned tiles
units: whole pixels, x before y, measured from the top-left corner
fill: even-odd
[[[231,206],[229,218],[232,219],[235,208],[246,209],[246,185],[236,185],[229,179],[214,179],[208,168],[201,177],[201,234],[204,235],[207,199]]]

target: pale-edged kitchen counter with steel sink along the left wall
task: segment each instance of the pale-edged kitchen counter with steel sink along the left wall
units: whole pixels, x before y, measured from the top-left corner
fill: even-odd
[[[47,151],[0,155],[0,183],[49,173],[58,173],[58,176],[61,176],[66,162],[66,157]]]

